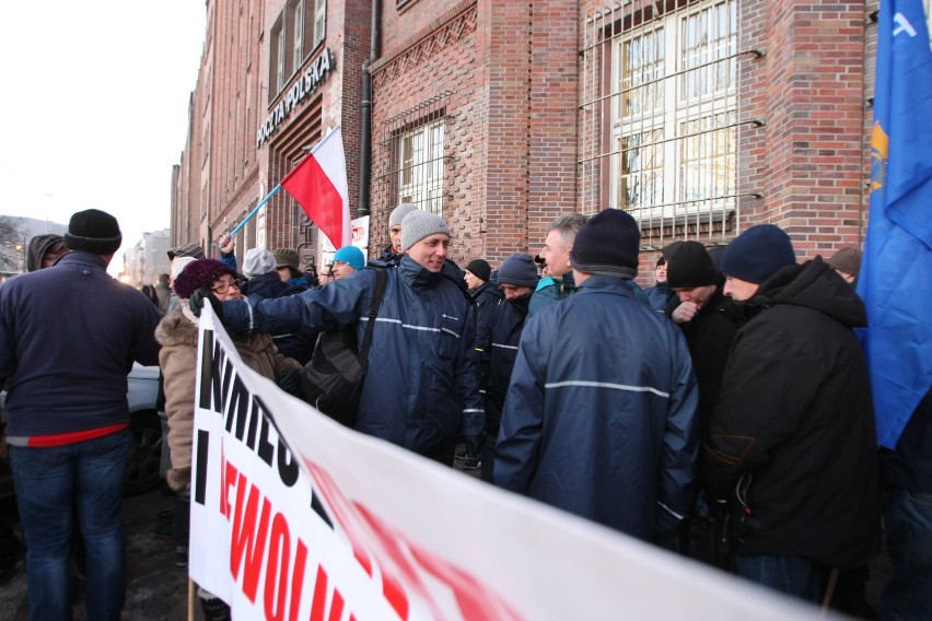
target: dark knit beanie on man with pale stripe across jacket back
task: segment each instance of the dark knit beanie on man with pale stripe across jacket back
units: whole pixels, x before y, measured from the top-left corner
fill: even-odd
[[[631,279],[638,274],[640,243],[641,232],[631,214],[609,208],[576,233],[570,262],[584,273]]]

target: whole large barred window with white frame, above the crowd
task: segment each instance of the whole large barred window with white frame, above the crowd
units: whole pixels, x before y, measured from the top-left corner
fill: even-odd
[[[610,206],[649,245],[721,241],[737,209],[737,1],[638,1],[584,24],[581,211]]]

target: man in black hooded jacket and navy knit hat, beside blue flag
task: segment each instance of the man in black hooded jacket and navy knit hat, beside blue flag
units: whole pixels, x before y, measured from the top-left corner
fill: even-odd
[[[702,447],[703,487],[733,504],[738,575],[819,601],[830,571],[879,549],[871,388],[852,329],[864,304],[819,257],[796,265],[772,224],[735,238],[722,271],[746,323]]]

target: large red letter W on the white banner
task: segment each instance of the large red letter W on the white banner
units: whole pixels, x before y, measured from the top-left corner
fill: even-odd
[[[245,506],[243,497],[249,488],[249,500]],[[253,604],[256,602],[256,591],[259,586],[259,574],[263,569],[263,558],[266,551],[266,540],[269,531],[269,503],[261,499],[263,513],[256,528],[256,514],[259,509],[261,493],[255,485],[249,484],[241,472],[236,480],[236,513],[233,517],[233,529],[230,537],[230,572],[238,579],[240,567],[245,562],[243,571],[243,594]],[[244,558],[245,556],[245,558]]]

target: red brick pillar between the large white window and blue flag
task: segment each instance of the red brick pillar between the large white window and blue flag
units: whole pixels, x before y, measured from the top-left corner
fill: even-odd
[[[742,229],[782,226],[800,258],[860,245],[864,207],[863,2],[742,2]]]

